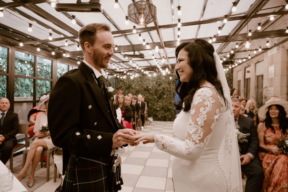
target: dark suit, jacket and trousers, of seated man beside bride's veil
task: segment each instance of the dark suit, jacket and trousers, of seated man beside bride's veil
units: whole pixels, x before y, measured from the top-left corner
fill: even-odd
[[[261,192],[264,171],[262,162],[258,155],[259,138],[254,120],[243,115],[238,118],[239,131],[242,133],[250,133],[247,137],[248,142],[239,143],[241,154],[251,153],[254,159],[246,165],[241,165],[241,171],[247,176],[245,192]]]

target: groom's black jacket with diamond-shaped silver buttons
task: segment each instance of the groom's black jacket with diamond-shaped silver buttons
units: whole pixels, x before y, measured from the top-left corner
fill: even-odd
[[[104,86],[111,86],[103,79]],[[50,94],[48,126],[54,145],[63,148],[63,174],[72,151],[86,158],[110,158],[113,134],[125,128],[115,120],[113,102],[107,94],[104,99],[83,62],[58,79]]]

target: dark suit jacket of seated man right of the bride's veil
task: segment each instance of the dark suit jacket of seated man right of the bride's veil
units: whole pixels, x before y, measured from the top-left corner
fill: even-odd
[[[242,154],[251,153],[252,155],[254,155],[253,161],[262,165],[262,162],[258,155],[259,138],[258,138],[257,127],[255,127],[254,125],[254,120],[249,117],[239,115],[238,125],[239,125],[240,132],[245,133],[245,134],[250,133],[250,135],[247,136],[246,138],[248,142],[239,143],[240,148],[242,150],[242,152],[240,153]]]

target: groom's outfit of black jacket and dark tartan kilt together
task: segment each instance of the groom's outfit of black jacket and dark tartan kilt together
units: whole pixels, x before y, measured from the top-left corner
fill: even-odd
[[[63,191],[106,191],[112,138],[125,128],[114,114],[113,98],[104,96],[84,62],[61,76],[50,94],[48,126],[53,143],[63,148]],[[87,160],[89,159],[89,160]],[[95,161],[101,162],[97,163]]]

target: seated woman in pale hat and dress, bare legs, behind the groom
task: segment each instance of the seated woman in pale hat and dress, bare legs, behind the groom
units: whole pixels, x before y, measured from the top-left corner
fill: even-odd
[[[27,183],[28,187],[32,187],[34,185],[35,169],[39,163],[43,149],[55,148],[50,137],[50,132],[49,131],[46,133],[39,132],[42,129],[42,126],[44,124],[48,124],[47,113],[48,113],[49,94],[42,96],[40,98],[40,101],[42,102],[39,104],[38,109],[39,110],[43,109],[46,106],[46,111],[43,113],[40,113],[36,118],[34,133],[37,138],[32,142],[30,146],[29,152],[27,154],[26,163],[23,169],[16,176],[18,180],[24,179],[24,177],[26,177],[27,175],[27,170],[29,168],[29,165],[32,162],[31,172],[29,175],[28,183]]]

